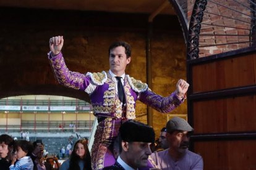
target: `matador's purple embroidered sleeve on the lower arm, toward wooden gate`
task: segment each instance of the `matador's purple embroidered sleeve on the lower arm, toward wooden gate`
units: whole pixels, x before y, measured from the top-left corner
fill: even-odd
[[[168,113],[174,108],[181,105],[184,102],[184,99],[179,100],[175,92],[173,92],[168,97],[163,97],[161,95],[155,94],[151,91],[145,91],[140,93],[139,97],[140,102],[145,103],[146,105],[154,108],[161,113]]]

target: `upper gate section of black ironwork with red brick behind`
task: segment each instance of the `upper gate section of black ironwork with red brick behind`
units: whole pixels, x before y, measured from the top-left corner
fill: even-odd
[[[189,58],[252,46],[255,4],[250,1],[188,1]]]

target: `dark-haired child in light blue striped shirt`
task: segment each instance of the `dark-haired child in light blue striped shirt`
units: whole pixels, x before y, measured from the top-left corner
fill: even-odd
[[[27,140],[17,140],[14,148],[16,152],[14,158],[12,159],[10,170],[32,170],[34,165],[30,155],[33,151],[33,145]],[[14,166],[16,160],[17,162]]]

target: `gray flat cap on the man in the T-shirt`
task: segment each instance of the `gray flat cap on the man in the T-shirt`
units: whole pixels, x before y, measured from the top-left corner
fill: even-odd
[[[187,123],[185,119],[174,117],[168,121],[166,124],[166,131],[194,131],[194,129]]]

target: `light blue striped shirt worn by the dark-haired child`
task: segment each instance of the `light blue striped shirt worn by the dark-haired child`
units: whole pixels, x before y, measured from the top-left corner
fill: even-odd
[[[10,170],[33,170],[34,164],[30,156],[24,156],[23,158],[20,158],[17,163],[12,164],[9,168]]]

